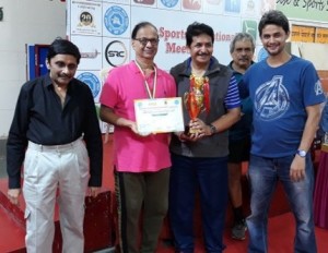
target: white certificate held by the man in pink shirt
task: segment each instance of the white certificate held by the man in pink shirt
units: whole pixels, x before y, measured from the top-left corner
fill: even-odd
[[[140,133],[184,131],[180,97],[134,100],[136,122]]]

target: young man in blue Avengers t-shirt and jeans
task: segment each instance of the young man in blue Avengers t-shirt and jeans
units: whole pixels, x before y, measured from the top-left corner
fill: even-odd
[[[290,25],[282,12],[265,13],[258,31],[269,57],[248,69],[241,91],[254,104],[248,252],[268,250],[268,209],[280,180],[296,220],[294,252],[315,253],[314,174],[308,149],[325,100],[321,83],[313,63],[286,52]]]

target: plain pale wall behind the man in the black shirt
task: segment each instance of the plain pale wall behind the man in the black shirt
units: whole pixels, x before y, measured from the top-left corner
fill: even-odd
[[[21,85],[26,82],[26,44],[66,36],[66,2],[0,0],[0,138],[8,136]]]

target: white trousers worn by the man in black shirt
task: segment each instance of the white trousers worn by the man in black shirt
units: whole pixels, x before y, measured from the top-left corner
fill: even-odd
[[[57,196],[62,252],[83,252],[84,198],[89,178],[89,156],[81,138],[58,146],[28,142],[23,182],[28,253],[52,252]]]

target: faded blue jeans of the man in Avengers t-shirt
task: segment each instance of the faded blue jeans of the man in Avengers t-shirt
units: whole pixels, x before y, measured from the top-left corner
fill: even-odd
[[[314,171],[309,155],[306,156],[305,179],[292,182],[290,167],[294,156],[265,158],[250,156],[248,176],[250,180],[250,210],[247,218],[249,231],[249,253],[268,252],[268,210],[278,180],[284,192],[296,221],[294,252],[316,253],[316,239],[313,219]]]

